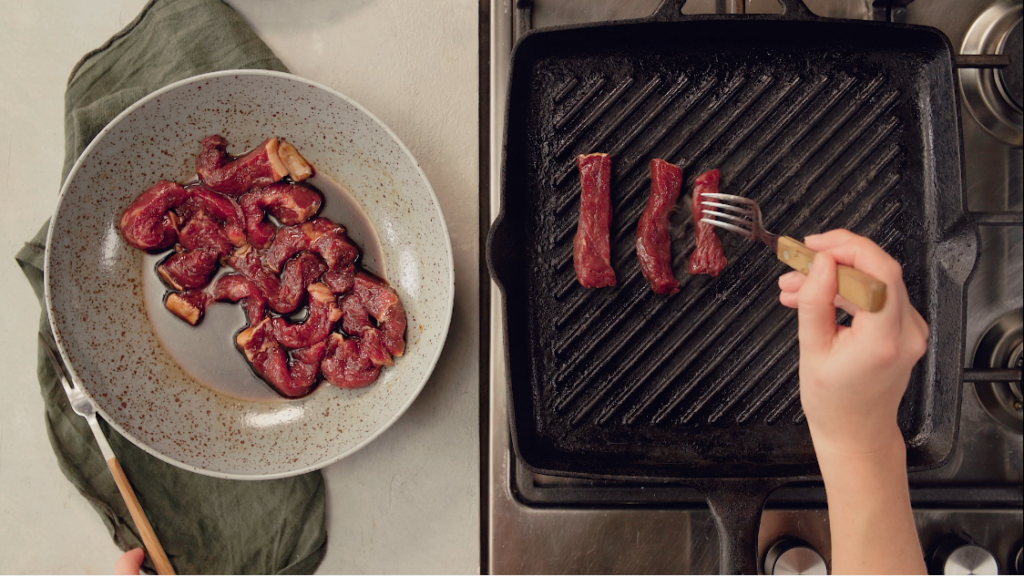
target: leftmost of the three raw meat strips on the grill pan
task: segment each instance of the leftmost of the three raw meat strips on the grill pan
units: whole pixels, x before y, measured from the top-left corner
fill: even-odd
[[[583,195],[580,223],[572,240],[572,264],[584,288],[615,285],[611,270],[611,157],[582,154],[577,158]]]

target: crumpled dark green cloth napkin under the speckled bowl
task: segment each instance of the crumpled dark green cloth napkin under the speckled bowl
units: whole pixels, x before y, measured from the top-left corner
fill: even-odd
[[[171,82],[227,69],[287,72],[220,0],[150,2],[72,72],[65,96],[63,177],[96,133],[137,99]],[[40,303],[48,227],[16,256]],[[52,341],[45,308],[39,330]],[[41,349],[37,362],[46,430],[60,470],[96,508],[118,546],[141,546],[88,424],[72,411]],[[179,574],[302,574],[319,564],[327,528],[318,471],[286,480],[218,480],[167,464],[100,425]],[[143,569],[153,571],[148,560]]]

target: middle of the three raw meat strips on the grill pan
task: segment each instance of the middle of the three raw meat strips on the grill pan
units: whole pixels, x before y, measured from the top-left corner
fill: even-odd
[[[672,272],[672,225],[669,216],[683,187],[683,169],[656,158],[650,161],[650,198],[637,227],[640,272],[655,294],[679,292]]]

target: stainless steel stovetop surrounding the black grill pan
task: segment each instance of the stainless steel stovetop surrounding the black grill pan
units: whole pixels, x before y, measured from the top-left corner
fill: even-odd
[[[966,367],[1021,366],[1021,0],[805,0],[819,15],[935,27],[962,54],[1016,50],[1014,68],[962,70],[969,208],[979,213],[982,253],[970,284]],[[514,39],[548,26],[641,17],[660,0],[492,0],[490,206],[497,215],[509,57]],[[684,11],[778,11],[775,0],[690,0]],[[1016,35],[1016,37],[1015,37]],[[1016,39],[1015,39],[1016,38]],[[1015,44],[1016,43],[1016,44]],[[1016,46],[1016,47],[1014,47]],[[1014,73],[1016,71],[1016,74]],[[1010,225],[1007,225],[1010,223]],[[671,484],[541,477],[511,451],[500,294],[492,285],[488,546],[492,573],[716,573],[718,534],[703,499]],[[975,354],[975,351],[978,351]],[[977,361],[976,361],[977,357]],[[911,475],[926,552],[954,566],[1020,573],[1024,442],[1020,384],[965,383],[959,442],[942,467]],[[820,485],[787,486],[769,499],[759,558],[771,572],[830,558]],[[779,546],[773,545],[780,544]],[[940,549],[941,548],[941,549]],[[785,553],[782,553],[785,552]],[[780,557],[779,554],[782,553]],[[781,558],[781,560],[778,560]],[[775,564],[777,560],[778,564]],[[793,564],[796,563],[796,564]],[[801,564],[803,563],[803,564]],[[1016,566],[1015,566],[1016,564]],[[939,567],[936,567],[939,568]],[[779,572],[782,573],[782,572]],[[794,572],[797,573],[797,572]],[[967,573],[967,572],[962,572]]]

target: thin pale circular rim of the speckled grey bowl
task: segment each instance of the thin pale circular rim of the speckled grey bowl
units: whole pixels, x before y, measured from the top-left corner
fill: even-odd
[[[366,115],[369,119],[371,119],[374,123],[376,123],[378,126],[380,126],[380,128],[388,136],[390,136],[391,139],[395,141],[395,143],[398,145],[398,148],[400,148],[401,151],[406,154],[406,156],[409,158],[409,161],[413,163],[413,165],[416,167],[416,173],[419,174],[420,178],[422,178],[423,183],[427,188],[427,192],[430,193],[430,198],[433,201],[434,209],[437,211],[438,221],[440,222],[441,232],[443,233],[444,236],[444,251],[447,256],[447,271],[449,271],[447,314],[445,314],[444,317],[444,328],[441,331],[442,337],[437,340],[436,343],[437,347],[434,351],[432,358],[430,358],[428,369],[426,370],[426,372],[424,372],[422,381],[420,381],[419,384],[416,385],[413,393],[409,395],[409,399],[406,401],[406,403],[402,404],[401,407],[395,411],[394,415],[391,416],[390,419],[385,421],[383,424],[381,424],[380,427],[378,427],[367,438],[365,438],[361,442],[358,442],[348,450],[345,450],[336,456],[325,458],[324,460],[321,460],[313,464],[309,464],[307,466],[303,466],[301,468],[296,468],[294,470],[288,470],[282,472],[267,474],[267,475],[222,472],[216,470],[208,470],[206,468],[201,468],[199,466],[187,464],[185,462],[176,460],[174,458],[171,458],[170,456],[167,456],[166,454],[163,454],[155,450],[153,447],[146,445],[144,442],[142,442],[134,435],[126,430],[123,426],[118,424],[117,421],[111,418],[106,414],[106,412],[99,407],[98,403],[93,400],[92,396],[89,394],[88,388],[86,386],[81,385],[78,373],[75,371],[75,367],[72,366],[72,364],[69,363],[67,360],[65,360],[68,357],[68,354],[65,351],[63,338],[60,336],[59,330],[53,323],[53,318],[54,318],[53,300],[50,296],[50,283],[49,283],[50,247],[53,241],[53,228],[54,228],[52,225],[52,221],[53,219],[56,218],[57,214],[60,212],[60,208],[63,206],[66,195],[68,193],[72,180],[75,177],[75,174],[78,173],[79,168],[89,157],[92,150],[97,146],[99,146],[100,142],[103,140],[103,138],[106,136],[106,134],[110,133],[111,130],[113,130],[122,120],[124,120],[124,118],[131,115],[133,112],[144,106],[146,102],[159,98],[161,95],[171,90],[180,88],[182,86],[187,86],[189,84],[194,84],[203,80],[221,78],[225,76],[270,76],[270,77],[291,80],[294,82],[302,82],[309,86],[323,90],[337,98],[344,100],[346,104],[355,108],[360,113]],[[274,480],[281,478],[290,478],[293,476],[299,476],[306,472],[318,470],[335,462],[338,462],[347,456],[354,454],[355,452],[359,451],[362,447],[367,446],[368,444],[376,440],[378,437],[380,437],[382,434],[384,434],[385,430],[390,428],[391,425],[394,424],[394,422],[396,422],[398,418],[400,418],[401,415],[406,413],[407,410],[409,410],[409,407],[412,406],[414,402],[416,402],[416,399],[419,398],[420,393],[423,392],[424,386],[427,385],[427,381],[430,379],[430,376],[433,374],[434,368],[437,366],[437,361],[440,359],[441,353],[444,351],[444,342],[447,340],[449,330],[452,327],[452,316],[455,310],[455,257],[452,252],[452,236],[449,233],[447,221],[444,219],[444,213],[441,210],[440,201],[437,199],[437,194],[434,193],[434,189],[430,184],[430,180],[427,178],[427,174],[423,171],[423,167],[420,166],[420,163],[416,160],[416,157],[413,156],[413,153],[406,146],[406,142],[403,142],[401,138],[399,138],[398,135],[395,134],[394,131],[392,131],[391,128],[387,126],[387,124],[381,121],[380,118],[377,118],[377,116],[375,116],[372,112],[367,110],[362,105],[346,96],[345,94],[342,94],[341,92],[335,90],[334,88],[331,88],[330,86],[326,86],[324,84],[321,84],[319,82],[315,82],[307,78],[302,78],[301,76],[296,76],[294,74],[288,74],[285,72],[275,72],[270,70],[221,70],[217,72],[210,72],[207,74],[200,74],[198,76],[191,76],[183,80],[178,80],[177,82],[168,84],[167,86],[164,86],[163,88],[160,88],[159,90],[156,90],[143,96],[135,104],[126,108],[121,114],[117,115],[114,118],[114,120],[111,120],[111,122],[108,123],[106,126],[104,126],[103,129],[100,130],[99,133],[97,133],[94,138],[92,138],[92,141],[89,142],[89,146],[85,147],[85,150],[82,151],[82,154],[78,157],[78,159],[75,160],[75,165],[72,166],[71,171],[68,172],[68,177],[65,178],[65,181],[60,187],[60,194],[57,197],[56,207],[53,209],[53,215],[51,216],[50,222],[51,223],[49,230],[46,233],[46,252],[43,259],[43,270],[46,277],[46,281],[43,283],[43,295],[46,302],[46,314],[49,319],[50,331],[53,333],[53,339],[57,344],[57,349],[60,353],[60,359],[63,362],[65,368],[68,372],[68,377],[72,380],[72,382],[74,382],[74,384],[77,387],[81,388],[85,393],[86,397],[88,397],[89,399],[89,402],[91,402],[92,405],[95,407],[96,413],[103,418],[103,420],[108,423],[108,425],[117,430],[118,434],[127,438],[128,440],[131,441],[132,444],[141,448],[148,454],[152,454],[169,464],[173,464],[179,468],[183,468],[204,476],[222,478],[226,480]]]

